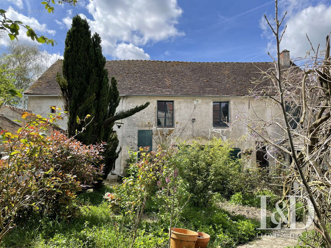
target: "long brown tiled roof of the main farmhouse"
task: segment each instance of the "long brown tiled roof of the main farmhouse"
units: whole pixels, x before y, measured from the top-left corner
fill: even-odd
[[[244,96],[260,78],[260,69],[274,68],[273,62],[177,62],[119,60],[107,61],[109,78],[115,76],[119,94]],[[62,60],[51,65],[26,95],[60,95],[56,81]],[[110,81],[110,80],[109,80]]]

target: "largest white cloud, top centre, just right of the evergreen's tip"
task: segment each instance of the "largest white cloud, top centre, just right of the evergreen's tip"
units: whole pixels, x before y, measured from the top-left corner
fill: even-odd
[[[149,59],[138,46],[184,34],[175,27],[183,12],[177,0],[123,0],[111,7],[93,0],[87,10],[93,16],[88,20],[92,33],[99,33],[105,53],[118,59]]]

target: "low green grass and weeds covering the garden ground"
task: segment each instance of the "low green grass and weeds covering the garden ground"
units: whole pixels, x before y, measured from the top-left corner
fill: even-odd
[[[81,215],[70,223],[51,218],[31,216],[24,224],[14,228],[3,240],[1,248],[112,248],[123,247],[128,234],[117,231],[110,216],[109,204],[103,200],[104,187],[100,192],[85,192],[78,196],[83,203]],[[142,220],[135,241],[135,248],[166,248],[168,222],[164,216],[147,213],[150,218]],[[121,223],[118,215],[116,221]],[[118,225],[120,226],[120,225]],[[117,227],[118,227],[117,226]],[[177,227],[204,231],[212,236],[210,248],[235,247],[256,237],[259,223],[242,216],[231,216],[218,208],[186,207],[178,219]],[[119,229],[122,227],[120,226]]]

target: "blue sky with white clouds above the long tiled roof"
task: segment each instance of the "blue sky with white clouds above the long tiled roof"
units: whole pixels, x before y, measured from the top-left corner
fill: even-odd
[[[57,45],[42,48],[60,58],[76,14],[87,18],[92,32],[100,34],[108,60],[261,62],[271,61],[267,51],[275,52],[262,18],[274,17],[272,0],[80,0],[76,7],[56,5],[53,14],[43,13],[40,2],[2,0],[0,8],[9,9],[10,18],[23,20],[38,34],[55,39]],[[306,33],[314,45],[320,42],[323,47],[331,31],[330,2],[279,0],[279,12],[288,11],[281,48],[290,50],[291,57],[305,56]],[[24,34],[19,39],[31,42]],[[2,46],[8,42],[3,38]]]

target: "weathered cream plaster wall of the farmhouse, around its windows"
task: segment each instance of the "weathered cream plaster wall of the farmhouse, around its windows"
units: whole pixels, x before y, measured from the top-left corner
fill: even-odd
[[[124,172],[125,160],[128,158],[127,148],[136,150],[138,148],[138,130],[153,130],[153,136],[157,139],[155,127],[155,106],[157,101],[173,101],[174,102],[174,122],[178,122],[177,127],[158,129],[163,133],[163,142],[171,144],[177,137],[180,140],[186,140],[188,143],[192,142],[192,138],[198,138],[203,143],[207,143],[213,137],[221,138],[223,140],[230,139],[233,141],[233,147],[254,147],[255,144],[246,142],[240,139],[242,136],[249,133],[247,123],[239,123],[232,131],[226,128],[213,127],[213,102],[229,101],[229,118],[233,122],[237,115],[258,115],[261,119],[270,119],[274,114],[270,103],[264,101],[249,100],[247,97],[145,97],[145,96],[127,96],[121,97],[117,111],[129,109],[136,105],[146,103],[151,104],[139,113],[130,116],[123,120],[124,125],[118,129],[115,125],[114,131],[118,134],[119,146],[122,151],[116,161],[117,173]],[[269,105],[268,105],[269,104]],[[44,116],[50,111],[49,106],[60,106],[62,108],[62,101],[58,97],[29,97],[28,108],[33,113]],[[192,137],[192,118],[196,121],[193,123],[193,137]],[[66,129],[66,118],[58,122],[61,128]],[[176,126],[176,125],[175,125]],[[277,133],[277,130],[272,131]],[[118,146],[118,148],[119,148]],[[157,144],[153,141],[153,149],[156,149]],[[252,163],[256,162],[255,155],[250,158]]]

